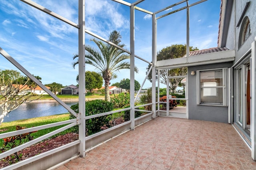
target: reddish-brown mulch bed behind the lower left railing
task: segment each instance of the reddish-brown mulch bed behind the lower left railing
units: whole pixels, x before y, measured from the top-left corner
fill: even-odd
[[[22,157],[20,158],[20,160],[24,160],[32,156],[36,156],[38,154],[46,152],[48,150],[58,148],[60,146],[63,146],[64,144],[74,142],[75,140],[78,140],[77,133],[67,133],[52,139],[44,140],[43,142],[39,142],[32,146],[29,146],[28,148],[25,148],[19,151],[18,155],[22,153]],[[9,166],[10,164],[14,164],[14,163],[15,163],[15,160],[12,159],[10,156],[7,156],[6,158],[0,160],[0,168]]]

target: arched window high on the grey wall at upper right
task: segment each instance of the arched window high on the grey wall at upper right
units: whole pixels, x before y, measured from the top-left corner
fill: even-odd
[[[246,16],[244,17],[244,20],[240,28],[238,48],[241,47],[241,45],[247,40],[247,38],[250,35],[251,35],[250,20],[248,16]]]

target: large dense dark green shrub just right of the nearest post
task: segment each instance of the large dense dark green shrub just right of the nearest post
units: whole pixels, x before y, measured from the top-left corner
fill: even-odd
[[[72,105],[70,108],[73,109],[76,113],[78,113],[78,104]],[[113,109],[113,103],[97,99],[86,102],[85,115],[97,115],[100,113],[112,111]],[[71,113],[70,119],[75,119],[75,117]],[[102,127],[110,127],[109,121],[110,117],[108,115],[86,120],[86,136],[100,132],[102,130]],[[78,125],[76,125],[76,127],[73,128],[73,131],[78,133]]]

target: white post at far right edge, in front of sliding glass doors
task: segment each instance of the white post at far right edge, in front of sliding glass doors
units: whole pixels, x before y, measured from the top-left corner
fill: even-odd
[[[252,57],[251,57],[251,117],[252,117],[252,159],[256,160],[256,37],[254,42],[252,42]]]

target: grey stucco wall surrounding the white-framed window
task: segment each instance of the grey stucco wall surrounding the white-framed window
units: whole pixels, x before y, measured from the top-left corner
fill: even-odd
[[[188,119],[228,123],[228,107],[196,104],[196,75],[192,76],[190,73],[203,69],[231,67],[232,64],[233,62],[227,62],[188,67]]]

